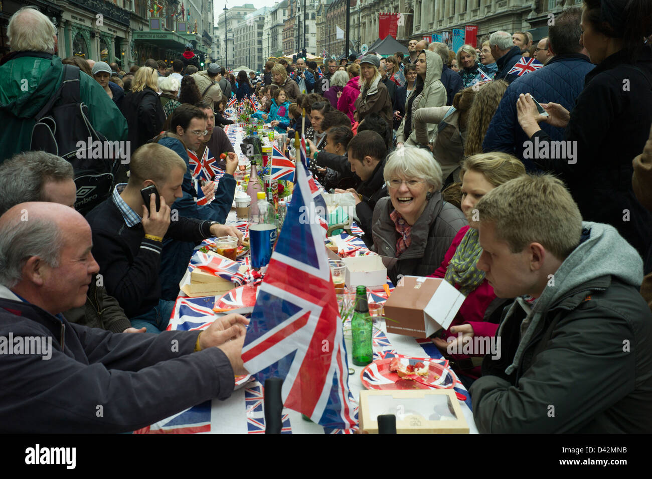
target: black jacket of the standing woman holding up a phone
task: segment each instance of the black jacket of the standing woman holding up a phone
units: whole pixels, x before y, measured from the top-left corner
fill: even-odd
[[[647,255],[645,274],[652,270],[652,214],[632,190],[632,159],[643,151],[650,124],[652,49],[641,48],[636,67],[618,51],[587,74],[571,110],[564,139],[576,145],[576,162],[535,160],[567,184],[584,221],[614,226],[644,260]],[[543,131],[535,136],[550,139]]]

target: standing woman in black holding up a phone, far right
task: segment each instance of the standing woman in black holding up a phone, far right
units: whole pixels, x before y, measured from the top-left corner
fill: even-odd
[[[584,0],[580,44],[597,66],[574,108],[544,104],[549,116],[542,117],[529,94],[517,103],[535,164],[566,182],[585,221],[614,226],[643,257],[645,272],[652,270],[652,214],[632,191],[632,158],[642,151],[652,123],[652,50],[643,44],[652,33],[650,18],[649,0]],[[540,121],[566,128],[564,150],[540,154],[542,143],[550,141]]]

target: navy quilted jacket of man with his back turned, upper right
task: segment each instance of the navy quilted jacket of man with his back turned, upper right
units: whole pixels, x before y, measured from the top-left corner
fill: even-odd
[[[523,158],[524,141],[527,140],[516,115],[516,100],[521,93],[529,93],[539,103],[555,102],[571,111],[575,100],[584,89],[584,77],[595,65],[581,53],[569,53],[553,57],[543,68],[519,76],[512,81],[498,105],[496,114],[489,124],[482,151],[504,151],[522,160],[526,168],[536,170],[535,164]],[[564,130],[540,123],[541,129],[550,138],[560,141]]]

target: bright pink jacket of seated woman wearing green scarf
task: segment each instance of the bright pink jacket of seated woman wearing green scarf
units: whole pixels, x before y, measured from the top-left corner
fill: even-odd
[[[462,238],[464,238],[464,235],[466,235],[469,227],[470,226],[464,226],[460,228],[460,231],[457,232],[457,235],[452,240],[451,247],[444,255],[444,259],[441,262],[441,265],[435,270],[433,274],[430,274],[431,278],[443,278],[445,276],[446,269],[451,262],[457,247],[462,242]],[[460,289],[458,284],[456,284],[455,287]],[[462,324],[471,325],[471,327],[473,327],[473,334],[475,336],[489,336],[490,338],[493,337],[496,334],[498,325],[484,321],[484,312],[486,312],[486,309],[494,299],[496,299],[496,295],[494,295],[494,288],[485,279],[477,288],[469,293],[469,295],[462,303],[462,306],[460,306],[460,310],[455,316],[455,319],[453,319],[451,327],[446,330],[446,339],[450,337],[455,338],[457,334],[452,334],[451,328],[453,326]],[[452,357],[456,359],[462,359],[469,356],[452,355]],[[464,373],[470,377],[480,377],[481,368],[480,366],[477,366],[472,370],[464,371]]]

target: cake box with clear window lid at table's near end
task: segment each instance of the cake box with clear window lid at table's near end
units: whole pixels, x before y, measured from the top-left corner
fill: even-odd
[[[452,389],[362,390],[360,429],[378,434],[378,416],[394,414],[398,434],[468,434]]]

